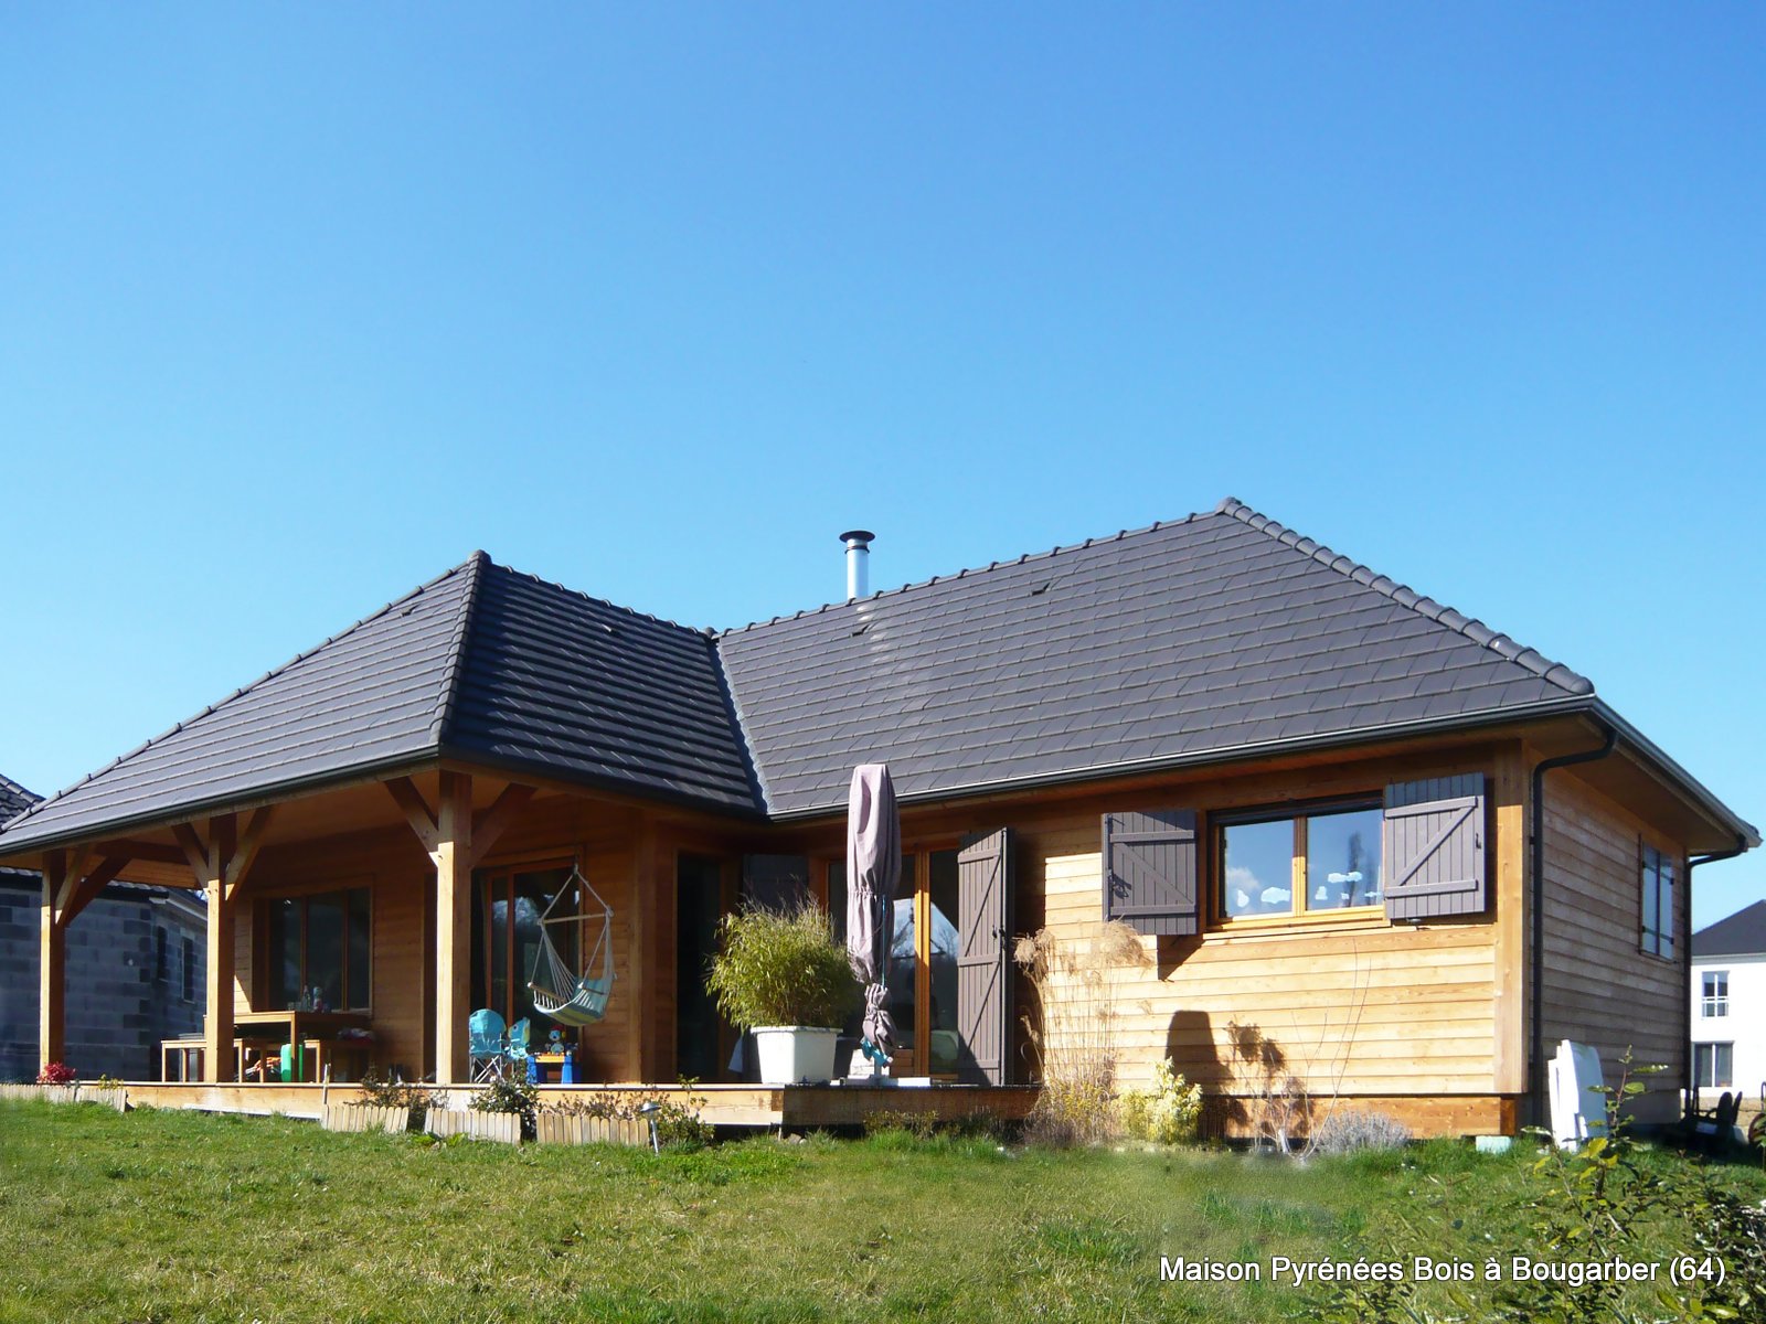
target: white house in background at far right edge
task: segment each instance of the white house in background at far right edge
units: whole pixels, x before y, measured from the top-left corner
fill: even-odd
[[[1766,1087],[1766,900],[1692,936],[1692,1066],[1702,1105]]]

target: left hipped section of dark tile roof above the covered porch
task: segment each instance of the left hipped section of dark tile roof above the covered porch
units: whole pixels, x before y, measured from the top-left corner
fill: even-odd
[[[713,643],[484,553],[41,801],[12,847],[442,754],[754,812]]]

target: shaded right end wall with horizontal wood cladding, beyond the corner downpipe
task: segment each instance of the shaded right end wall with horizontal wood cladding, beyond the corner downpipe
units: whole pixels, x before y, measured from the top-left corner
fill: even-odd
[[[1676,860],[1674,950],[1639,950],[1639,839]],[[1687,1064],[1685,853],[1604,794],[1566,773],[1545,782],[1545,1056],[1561,1040],[1591,1043],[1609,1075],[1632,1050],[1669,1070],[1649,1077],[1637,1107],[1646,1121],[1678,1112]]]

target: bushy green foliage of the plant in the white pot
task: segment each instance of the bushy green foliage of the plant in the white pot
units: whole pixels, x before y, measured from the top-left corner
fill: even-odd
[[[860,997],[846,948],[834,941],[826,911],[814,904],[726,916],[706,989],[738,1029],[839,1029]]]

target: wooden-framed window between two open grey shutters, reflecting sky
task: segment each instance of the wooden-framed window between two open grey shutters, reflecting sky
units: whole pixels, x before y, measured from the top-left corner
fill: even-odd
[[[1215,913],[1222,920],[1379,906],[1377,803],[1217,819]]]

